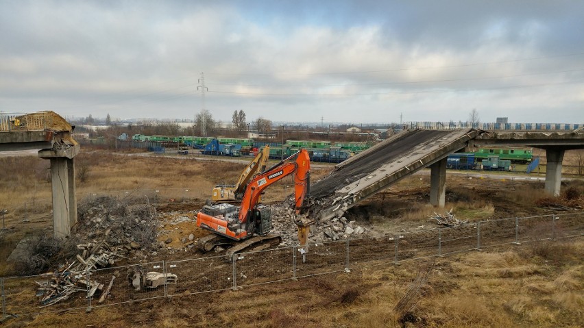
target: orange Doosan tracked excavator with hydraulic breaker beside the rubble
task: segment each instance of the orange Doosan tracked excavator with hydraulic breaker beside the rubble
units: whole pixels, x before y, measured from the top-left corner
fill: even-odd
[[[206,205],[197,214],[197,227],[208,229],[214,234],[199,238],[199,247],[210,251],[219,244],[232,244],[227,255],[251,249],[258,251],[276,244],[282,238],[269,234],[271,230],[270,208],[258,204],[260,194],[288,175],[294,175],[295,223],[298,226],[300,244],[308,240],[308,227],[313,223],[300,215],[302,204],[310,190],[311,162],[308,152],[302,149],[298,153],[282,160],[278,164],[255,175],[245,186],[241,205],[228,203]]]

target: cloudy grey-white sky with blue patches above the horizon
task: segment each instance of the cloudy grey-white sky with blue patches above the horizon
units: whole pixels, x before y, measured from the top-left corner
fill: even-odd
[[[584,123],[579,0],[2,0],[0,40],[1,112]]]

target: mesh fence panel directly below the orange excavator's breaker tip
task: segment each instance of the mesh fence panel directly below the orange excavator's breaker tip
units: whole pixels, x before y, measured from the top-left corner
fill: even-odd
[[[308,245],[308,251],[297,257],[296,277],[343,271],[347,263],[347,241]]]

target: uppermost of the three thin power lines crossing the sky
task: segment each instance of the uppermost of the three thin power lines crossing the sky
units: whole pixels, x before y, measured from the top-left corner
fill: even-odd
[[[347,72],[326,72],[326,73],[207,73],[208,75],[230,75],[230,76],[276,76],[276,75],[343,75],[343,74],[365,74],[365,73],[385,73],[385,72],[397,72],[397,71],[411,71],[420,69],[434,69],[434,68],[457,68],[457,67],[468,67],[468,66],[480,66],[489,64],[504,64],[510,62],[524,62],[528,60],[540,60],[548,58],[563,58],[576,55],[584,55],[584,53],[568,53],[565,55],[552,55],[552,56],[542,56],[533,58],[522,58],[517,60],[501,60],[498,62],[478,62],[469,64],[457,64],[457,65],[445,65],[445,66],[422,66],[422,67],[407,67],[407,68],[390,68],[390,69],[380,69],[372,71],[347,71]]]

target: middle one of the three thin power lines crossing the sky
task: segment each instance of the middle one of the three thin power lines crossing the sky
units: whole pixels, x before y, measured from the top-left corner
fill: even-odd
[[[328,87],[328,86],[382,86],[389,84],[418,84],[418,83],[434,83],[434,82],[453,82],[453,81],[477,81],[482,79],[504,79],[508,77],[524,77],[533,75],[547,75],[547,74],[558,74],[558,73],[572,73],[584,71],[584,68],[572,69],[568,71],[554,71],[554,72],[541,72],[541,73],[527,73],[518,75],[501,75],[492,77],[471,77],[467,79],[434,79],[427,81],[407,81],[407,82],[372,82],[372,83],[361,83],[361,84],[236,84],[236,83],[223,83],[223,82],[211,82],[210,85],[219,86],[258,86],[258,87]]]

